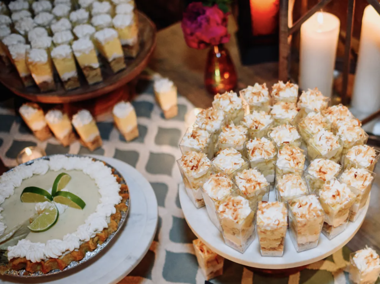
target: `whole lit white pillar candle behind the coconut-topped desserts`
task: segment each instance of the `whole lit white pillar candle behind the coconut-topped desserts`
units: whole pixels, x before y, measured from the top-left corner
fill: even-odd
[[[326,12],[315,13],[302,24],[299,56],[302,90],[318,87],[331,97],[339,26],[339,19]]]

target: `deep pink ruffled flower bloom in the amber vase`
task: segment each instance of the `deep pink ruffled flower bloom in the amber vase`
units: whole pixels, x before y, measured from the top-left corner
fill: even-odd
[[[186,43],[192,48],[203,49],[228,42],[227,16],[217,5],[207,7],[202,2],[190,3],[182,19]]]

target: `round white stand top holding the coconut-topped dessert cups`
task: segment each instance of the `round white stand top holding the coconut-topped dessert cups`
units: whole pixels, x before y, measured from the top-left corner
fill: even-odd
[[[318,260],[321,260],[350,241],[362,225],[365,215],[368,210],[369,199],[364,207],[363,212],[358,216],[357,220],[352,223],[348,222],[347,228],[344,232],[336,236],[334,239],[329,240],[323,234],[319,238],[318,246],[297,252],[290,240],[289,229],[285,238],[285,249],[283,257],[261,256],[259,240],[257,234],[254,241],[248,246],[244,253],[227,246],[224,243],[222,233],[214,226],[208,217],[206,207],[197,209],[188,197],[185,185],[180,184],[179,187],[181,207],[185,215],[185,219],[189,224],[192,232],[213,251],[219,255],[255,268],[261,269],[286,269],[292,267],[299,267],[307,265]],[[275,193],[273,189],[269,195],[269,201],[275,201]]]

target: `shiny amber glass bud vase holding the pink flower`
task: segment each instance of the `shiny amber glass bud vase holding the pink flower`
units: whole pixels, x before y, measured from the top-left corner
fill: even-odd
[[[204,84],[210,94],[224,93],[236,87],[238,78],[230,52],[223,44],[211,46],[206,62]]]

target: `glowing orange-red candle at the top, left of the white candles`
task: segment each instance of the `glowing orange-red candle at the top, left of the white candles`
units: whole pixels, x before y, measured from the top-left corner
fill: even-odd
[[[280,0],[250,0],[252,33],[271,35],[279,27]]]

